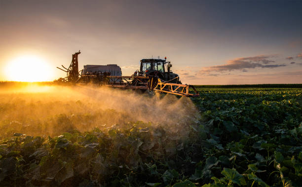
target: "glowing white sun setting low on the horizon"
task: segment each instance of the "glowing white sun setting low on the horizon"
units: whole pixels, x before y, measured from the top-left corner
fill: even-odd
[[[7,80],[12,81],[49,81],[52,77],[52,68],[38,56],[21,56],[7,64],[5,75]]]

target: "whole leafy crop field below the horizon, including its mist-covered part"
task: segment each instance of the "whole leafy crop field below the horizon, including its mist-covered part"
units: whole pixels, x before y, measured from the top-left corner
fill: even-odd
[[[301,88],[197,89],[125,112],[1,93],[0,186],[302,186]]]

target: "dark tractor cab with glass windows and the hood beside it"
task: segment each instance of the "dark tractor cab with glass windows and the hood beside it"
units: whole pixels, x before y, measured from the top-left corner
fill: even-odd
[[[142,59],[139,75],[155,75],[163,81],[171,80],[171,83],[180,83],[177,74],[174,74],[170,68],[171,62],[162,59]],[[173,80],[172,80],[173,79]]]

